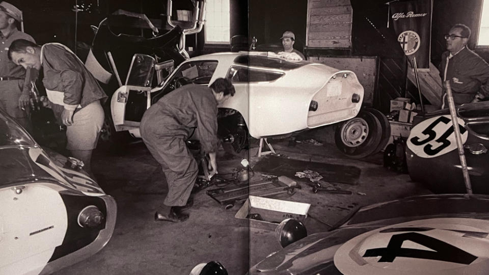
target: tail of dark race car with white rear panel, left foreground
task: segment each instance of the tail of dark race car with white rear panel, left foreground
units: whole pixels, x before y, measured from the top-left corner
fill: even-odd
[[[117,206],[82,170],[46,151],[0,109],[0,274],[49,274],[100,251]]]

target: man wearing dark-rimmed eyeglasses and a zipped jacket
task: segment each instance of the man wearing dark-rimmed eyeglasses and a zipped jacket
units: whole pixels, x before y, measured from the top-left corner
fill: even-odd
[[[442,54],[440,76],[443,82],[450,81],[455,105],[489,99],[489,65],[467,48],[470,33],[468,26],[456,24],[445,35],[447,51]],[[443,89],[442,108],[448,104]]]

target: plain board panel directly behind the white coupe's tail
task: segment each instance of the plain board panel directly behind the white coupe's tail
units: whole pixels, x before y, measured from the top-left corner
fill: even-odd
[[[354,72],[364,89],[363,102],[373,104],[375,79],[377,78],[377,59],[375,57],[310,57],[309,61]]]

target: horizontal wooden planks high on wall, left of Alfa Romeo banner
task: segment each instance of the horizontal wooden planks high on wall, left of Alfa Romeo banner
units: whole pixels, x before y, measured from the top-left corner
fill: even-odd
[[[349,0],[309,0],[306,47],[351,48]]]

